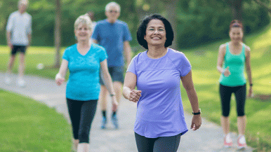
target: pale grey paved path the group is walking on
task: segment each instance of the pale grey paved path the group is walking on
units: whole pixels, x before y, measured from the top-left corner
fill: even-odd
[[[25,76],[27,85],[25,88],[19,88],[15,84],[16,76],[13,75],[11,85],[4,84],[4,74],[0,72],[0,88],[11,92],[16,92],[27,97],[31,97],[50,107],[55,107],[59,113],[63,113],[70,122],[67,106],[65,103],[65,86],[55,85],[55,81],[40,78],[36,76]],[[1,100],[1,99],[0,99]],[[110,108],[110,107],[109,107]],[[205,109],[206,110],[206,109]],[[204,116],[204,109],[203,116]],[[100,130],[100,109],[93,120],[91,127],[91,152],[135,152],[135,137],[133,132],[133,123],[135,121],[136,104],[128,102],[122,98],[119,109],[119,130],[114,130],[109,121],[107,130]],[[109,116],[111,113],[108,113]],[[190,126],[192,116],[185,113],[187,125]],[[240,151],[237,150],[237,136],[232,133],[234,146],[232,148],[222,148],[223,131],[218,125],[203,119],[201,128],[197,131],[188,131],[180,139],[178,151]],[[241,151],[252,151],[252,148],[246,148]]]

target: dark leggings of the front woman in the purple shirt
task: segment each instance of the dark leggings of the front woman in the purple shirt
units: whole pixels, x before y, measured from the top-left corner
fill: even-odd
[[[180,144],[181,135],[147,138],[135,133],[135,141],[139,152],[176,152]]]

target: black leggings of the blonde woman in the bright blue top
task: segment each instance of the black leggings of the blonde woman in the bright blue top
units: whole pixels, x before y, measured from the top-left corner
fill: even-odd
[[[74,139],[79,139],[79,143],[89,143],[89,132],[91,131],[97,101],[98,99],[77,101],[67,98]]]

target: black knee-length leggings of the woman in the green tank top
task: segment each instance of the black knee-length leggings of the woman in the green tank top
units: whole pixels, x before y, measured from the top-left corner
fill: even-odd
[[[244,116],[244,104],[246,102],[246,84],[237,87],[221,85],[219,87],[222,115],[227,117],[230,114],[230,98],[235,95],[237,104],[237,116]]]

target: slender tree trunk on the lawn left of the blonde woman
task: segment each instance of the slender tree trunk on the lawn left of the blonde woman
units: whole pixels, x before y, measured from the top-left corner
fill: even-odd
[[[55,0],[55,68],[60,67],[60,46],[61,46],[61,0]]]

